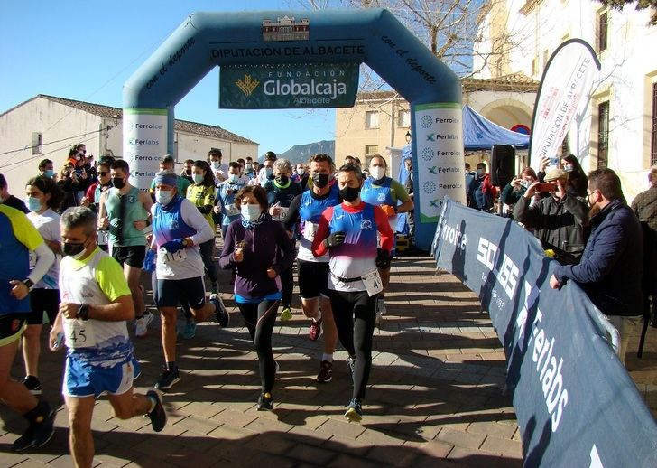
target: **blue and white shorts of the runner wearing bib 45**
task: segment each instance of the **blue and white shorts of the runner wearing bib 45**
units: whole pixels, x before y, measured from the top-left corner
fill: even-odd
[[[68,397],[96,397],[108,393],[122,395],[133,388],[133,380],[142,373],[139,362],[131,356],[110,368],[92,366],[86,360],[66,358],[66,371],[61,392]]]

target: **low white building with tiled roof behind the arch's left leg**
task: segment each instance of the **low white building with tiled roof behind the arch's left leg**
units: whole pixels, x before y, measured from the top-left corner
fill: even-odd
[[[83,143],[96,160],[122,154],[121,108],[38,95],[0,114],[0,173],[4,173],[11,192],[22,197],[25,183],[38,173],[42,159],[51,159],[59,172],[72,145]],[[206,159],[211,148],[218,148],[224,161],[258,155],[258,144],[209,126],[176,119],[174,157]],[[163,155],[163,154],[162,154]]]

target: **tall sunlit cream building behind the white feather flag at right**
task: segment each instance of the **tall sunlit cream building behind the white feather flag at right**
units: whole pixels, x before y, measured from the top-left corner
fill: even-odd
[[[541,80],[560,43],[580,38],[593,47],[602,70],[563,150],[585,171],[614,169],[628,200],[647,188],[645,174],[657,164],[657,26],[649,18],[634,4],[618,11],[590,0],[505,0],[492,5],[476,44],[482,79],[522,72]]]

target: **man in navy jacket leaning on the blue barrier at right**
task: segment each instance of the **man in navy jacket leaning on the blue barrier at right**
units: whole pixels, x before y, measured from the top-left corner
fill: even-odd
[[[591,235],[581,261],[557,267],[550,285],[556,289],[572,279],[584,289],[620,333],[618,354],[625,362],[629,335],[643,309],[641,226],[611,169],[588,174],[588,203]]]

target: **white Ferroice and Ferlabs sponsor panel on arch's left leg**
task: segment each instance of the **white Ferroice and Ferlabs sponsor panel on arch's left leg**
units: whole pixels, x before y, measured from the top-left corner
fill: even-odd
[[[148,189],[167,154],[166,109],[124,109],[123,154],[130,183]]]

